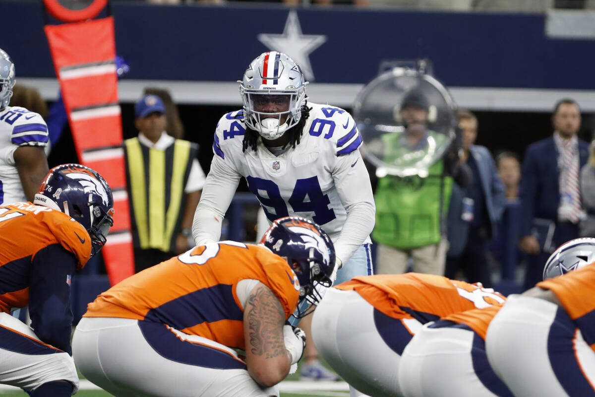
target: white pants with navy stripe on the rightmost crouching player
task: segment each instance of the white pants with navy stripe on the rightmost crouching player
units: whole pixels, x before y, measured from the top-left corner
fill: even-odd
[[[510,296],[488,327],[486,351],[516,396],[595,396],[595,352],[552,302]]]

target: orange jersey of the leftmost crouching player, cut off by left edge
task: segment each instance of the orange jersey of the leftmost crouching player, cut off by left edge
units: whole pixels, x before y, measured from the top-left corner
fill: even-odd
[[[64,212],[30,202],[0,206],[0,311],[29,305],[30,263],[53,244],[72,252],[78,268],[90,258],[89,233]]]

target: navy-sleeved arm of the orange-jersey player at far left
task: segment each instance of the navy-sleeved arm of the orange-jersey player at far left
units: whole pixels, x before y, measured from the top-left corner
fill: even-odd
[[[76,270],[77,259],[60,244],[54,244],[37,252],[31,265],[31,326],[42,342],[71,354],[73,313],[70,308],[70,280]]]

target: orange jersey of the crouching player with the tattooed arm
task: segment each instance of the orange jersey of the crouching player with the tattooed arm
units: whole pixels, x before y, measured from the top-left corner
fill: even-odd
[[[259,280],[279,298],[285,318],[299,299],[299,282],[287,261],[264,246],[208,243],[134,274],[99,295],[84,317],[155,321],[245,348],[240,280]]]

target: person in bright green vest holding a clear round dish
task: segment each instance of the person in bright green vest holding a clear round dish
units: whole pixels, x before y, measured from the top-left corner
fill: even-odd
[[[405,273],[411,258],[414,271],[443,275],[452,183],[466,187],[471,174],[453,140],[452,98],[432,77],[395,68],[368,83],[354,108],[377,182],[377,273]]]

